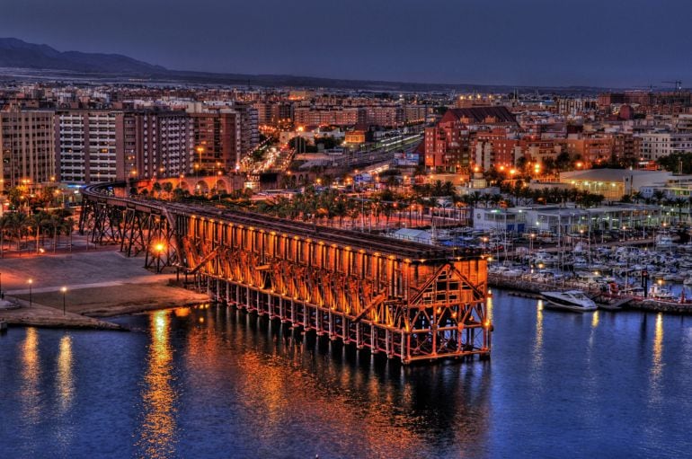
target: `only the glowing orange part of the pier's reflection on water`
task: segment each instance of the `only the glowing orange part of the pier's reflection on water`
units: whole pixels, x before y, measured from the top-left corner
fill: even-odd
[[[206,311],[197,314],[204,313]],[[214,368],[213,373],[217,374],[243,375],[235,381],[237,385],[229,386],[229,390],[242,394],[238,402],[247,412],[262,413],[261,417],[248,419],[253,422],[253,431],[258,437],[279,435],[290,427],[292,419],[300,412],[317,425],[341,432],[337,437],[343,437],[344,441],[350,433],[359,432],[358,440],[348,441],[357,441],[358,448],[368,445],[369,449],[382,452],[381,457],[391,456],[387,453],[391,452],[392,445],[410,451],[421,443],[418,432],[406,425],[410,419],[388,402],[393,400],[387,393],[392,390],[391,385],[382,387],[376,375],[350,372],[324,356],[306,357],[304,353],[315,352],[315,349],[304,349],[306,339],[286,344],[288,349],[283,349],[285,341],[272,340],[273,346],[264,349],[258,325],[261,319],[250,314],[241,313],[239,322],[226,323],[226,338],[215,330],[212,316],[206,317],[204,326],[195,327],[187,337],[186,361],[195,371],[206,372]],[[199,318],[194,317],[192,322],[199,323]],[[230,317],[225,319],[230,322]],[[254,326],[257,329],[253,330]],[[235,351],[228,352],[224,345],[226,339],[235,341]],[[366,393],[365,400],[359,397]],[[393,425],[393,419],[397,425]]]

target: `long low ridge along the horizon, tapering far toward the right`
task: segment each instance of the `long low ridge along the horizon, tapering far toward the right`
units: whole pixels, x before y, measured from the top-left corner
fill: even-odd
[[[18,71],[16,69],[22,69]],[[29,69],[31,72],[25,72]],[[193,84],[237,84],[270,87],[321,87],[373,92],[512,92],[542,90],[549,93],[599,93],[601,88],[590,86],[546,87],[512,86],[505,84],[428,84],[371,80],[342,80],[300,75],[217,74],[169,70],[120,54],[60,52],[48,45],[36,45],[18,39],[0,39],[0,79],[85,79],[112,80],[126,76],[149,82],[180,82]]]

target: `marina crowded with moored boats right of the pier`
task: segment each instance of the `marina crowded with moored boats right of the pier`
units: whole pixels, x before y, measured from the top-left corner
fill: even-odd
[[[591,244],[558,239],[537,250],[498,251],[488,254],[488,281],[532,295],[579,290],[601,309],[692,313],[692,250],[678,240],[661,232],[643,240]]]

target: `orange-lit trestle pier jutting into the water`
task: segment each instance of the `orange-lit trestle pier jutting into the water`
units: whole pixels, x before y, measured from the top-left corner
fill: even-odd
[[[227,305],[405,364],[491,351],[487,266],[452,251],[205,204],[83,190],[79,231],[174,266]]]

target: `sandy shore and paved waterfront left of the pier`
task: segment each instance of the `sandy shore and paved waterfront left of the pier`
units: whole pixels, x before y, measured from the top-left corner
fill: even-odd
[[[4,299],[19,306],[0,309],[0,320],[118,330],[120,325],[96,317],[208,302],[206,295],[170,285],[174,273],[155,275],[143,265],[143,259],[129,259],[115,250],[0,260]],[[65,314],[62,287],[67,287]]]

